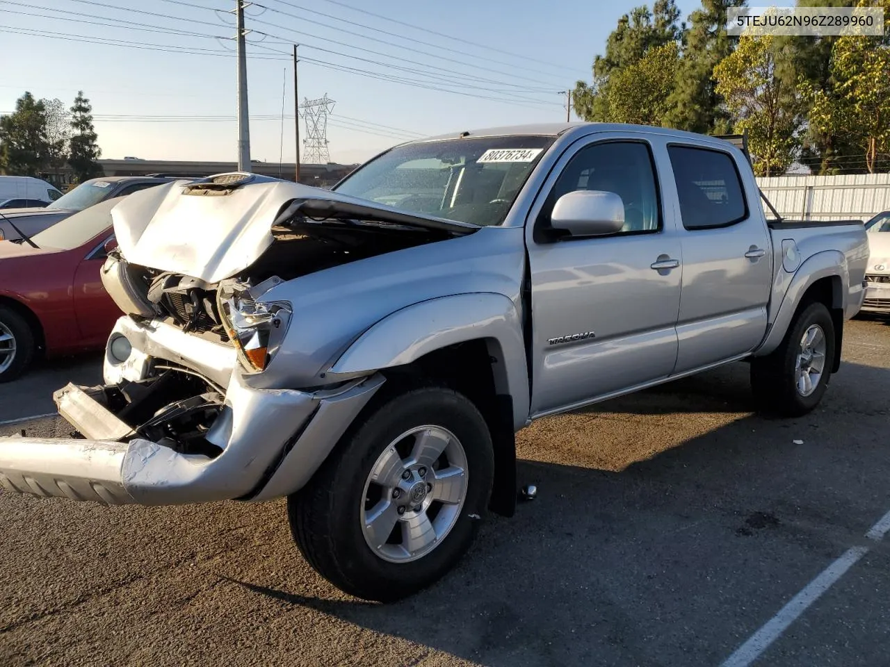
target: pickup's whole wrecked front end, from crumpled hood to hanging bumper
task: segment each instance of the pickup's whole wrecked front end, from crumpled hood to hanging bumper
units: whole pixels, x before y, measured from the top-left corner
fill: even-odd
[[[384,378],[271,377],[274,359],[287,368],[302,358],[282,352],[298,317],[276,288],[475,229],[319,192],[257,177],[122,200],[119,249],[102,281],[125,317],[109,336],[105,384],[54,395],[72,438],[0,438],[0,485],[146,505],[262,501],[301,488]]]

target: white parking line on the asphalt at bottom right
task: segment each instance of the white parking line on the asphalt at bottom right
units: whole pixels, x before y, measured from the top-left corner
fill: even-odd
[[[870,540],[880,542],[887,531],[890,531],[890,512],[887,512],[878,520],[878,523],[871,526],[865,536]],[[806,611],[807,607],[819,599],[822,593],[828,591],[833,583],[837,582],[868,552],[869,547],[851,547],[846,550],[843,556],[822,570],[812,582],[806,584],[803,591],[790,599],[788,604],[782,607],[779,613],[767,621],[760,630],[751,635],[748,641],[736,648],[732,655],[721,663],[721,667],[748,667],[773,641],[779,639],[781,633],[786,631],[788,626]]]

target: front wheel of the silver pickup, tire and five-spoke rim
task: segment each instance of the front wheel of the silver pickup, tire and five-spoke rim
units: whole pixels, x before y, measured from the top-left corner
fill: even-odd
[[[489,430],[443,387],[376,402],[287,499],[297,547],[337,588],[391,601],[445,575],[473,542],[494,476]]]

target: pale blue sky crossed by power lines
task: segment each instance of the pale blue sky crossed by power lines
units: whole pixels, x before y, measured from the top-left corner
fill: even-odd
[[[637,4],[257,0],[245,19],[251,157],[294,161],[294,43],[300,100],[335,100],[330,159],[354,163],[423,136],[564,120],[560,91],[589,81]],[[698,4],[677,2],[684,19]],[[234,6],[0,0],[0,113],[25,91],[70,104],[83,90],[102,157],[235,161]]]

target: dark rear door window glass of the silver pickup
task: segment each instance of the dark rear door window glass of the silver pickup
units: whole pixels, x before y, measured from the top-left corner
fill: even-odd
[[[732,157],[719,150],[668,146],[686,229],[727,227],[748,217]]]

